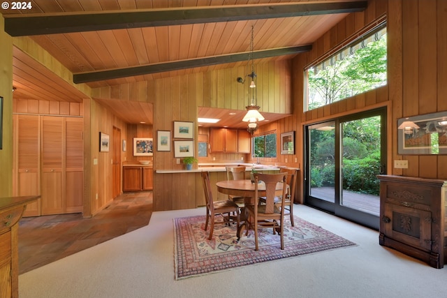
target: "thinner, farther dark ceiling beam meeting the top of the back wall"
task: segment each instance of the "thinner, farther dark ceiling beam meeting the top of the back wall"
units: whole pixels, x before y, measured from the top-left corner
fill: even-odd
[[[312,45],[303,45],[299,47],[279,47],[270,50],[258,50],[252,53],[243,52],[236,54],[171,61],[160,64],[133,66],[128,68],[98,70],[89,73],[75,73],[73,75],[73,82],[75,82],[75,84],[96,82],[117,79],[119,77],[132,77],[135,75],[147,75],[149,73],[163,73],[170,70],[180,70],[185,68],[195,68],[200,66],[211,66],[216,64],[228,64],[239,61],[247,61],[250,54],[252,59],[262,59],[267,57],[298,54],[302,52],[308,52],[310,50],[312,50]]]

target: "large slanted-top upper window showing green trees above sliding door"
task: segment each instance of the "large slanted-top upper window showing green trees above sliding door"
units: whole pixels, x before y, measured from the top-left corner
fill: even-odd
[[[386,85],[386,24],[305,70],[305,111]]]

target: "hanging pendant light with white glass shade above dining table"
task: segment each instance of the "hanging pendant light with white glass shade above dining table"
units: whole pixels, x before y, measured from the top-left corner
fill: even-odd
[[[249,67],[251,66],[251,73],[245,76],[249,77],[249,105],[245,107],[247,109],[247,114],[245,114],[242,121],[248,122],[247,131],[253,134],[256,129],[258,129],[258,122],[263,121],[264,117],[259,112],[261,107],[258,106],[257,98],[257,84],[256,84],[256,73],[254,72],[254,61],[253,61],[253,43],[254,43],[254,26],[251,25],[251,40],[250,40],[250,54],[249,54]],[[244,84],[245,80],[242,77],[237,77],[237,82]]]

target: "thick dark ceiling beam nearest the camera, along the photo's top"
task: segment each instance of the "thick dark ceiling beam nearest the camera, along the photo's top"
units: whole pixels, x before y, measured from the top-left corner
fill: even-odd
[[[10,36],[32,36],[54,33],[131,29],[180,24],[230,22],[355,13],[365,10],[367,1],[332,3],[293,3],[202,8],[170,8],[133,10],[108,13],[77,13],[57,15],[4,15],[5,31]]]

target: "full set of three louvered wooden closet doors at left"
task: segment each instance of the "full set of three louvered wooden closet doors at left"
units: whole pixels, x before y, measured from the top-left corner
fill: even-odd
[[[41,195],[24,216],[82,212],[83,119],[13,115],[13,195]]]

